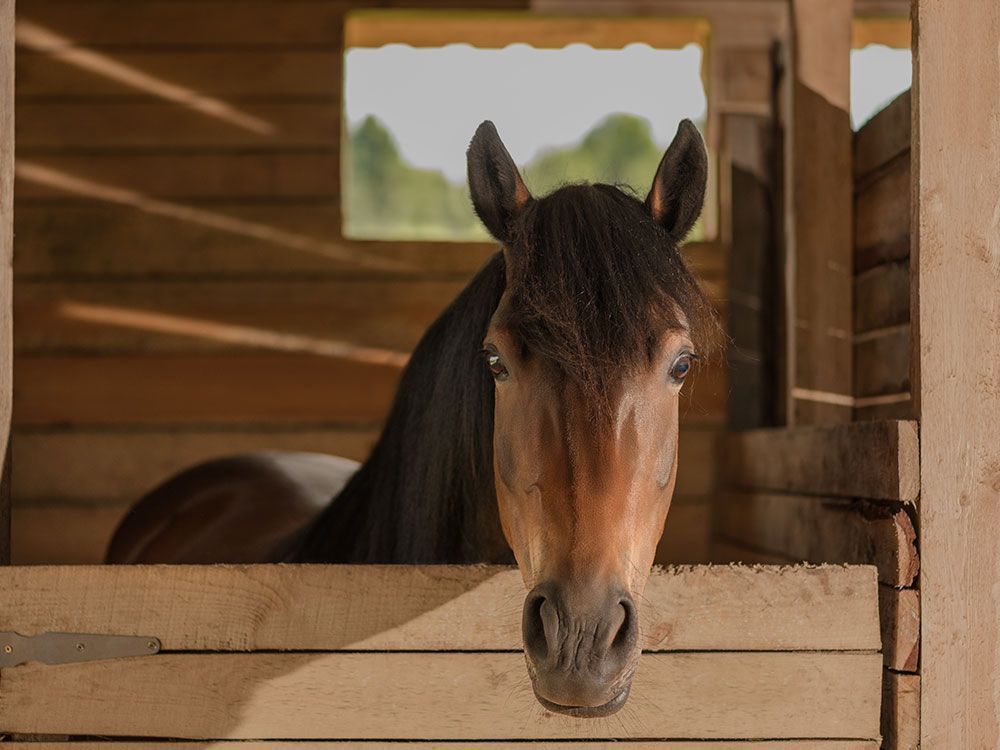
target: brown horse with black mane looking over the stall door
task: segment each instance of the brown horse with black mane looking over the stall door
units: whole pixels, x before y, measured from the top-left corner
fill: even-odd
[[[535,199],[492,123],[469,147],[502,249],[431,326],[358,467],[256,454],[143,498],[109,562],[508,562],[539,701],[606,716],[640,653],[637,598],[677,475],[678,400],[714,318],[677,244],[707,158],[689,122],[645,202],[609,185]],[[331,501],[330,498],[333,498]]]

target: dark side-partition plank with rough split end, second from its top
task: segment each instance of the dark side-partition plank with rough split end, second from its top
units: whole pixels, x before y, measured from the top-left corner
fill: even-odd
[[[801,495],[728,495],[716,508],[716,530],[763,550],[814,563],[875,565],[879,581],[913,585],[920,569],[913,524],[905,511]]]

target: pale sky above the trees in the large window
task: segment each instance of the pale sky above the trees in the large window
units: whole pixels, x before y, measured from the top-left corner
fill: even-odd
[[[701,56],[694,44],[680,50],[390,44],[348,50],[344,99],[351,126],[373,114],[411,164],[464,181],[465,150],[483,120],[493,120],[520,164],[545,148],[578,142],[615,112],[648,119],[654,140],[666,147],[683,118],[705,117]]]

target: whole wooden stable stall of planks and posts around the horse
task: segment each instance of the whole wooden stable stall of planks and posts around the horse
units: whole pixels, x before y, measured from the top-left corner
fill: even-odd
[[[10,495],[15,563],[96,563],[182,466],[364,455],[492,251],[341,236],[345,14],[369,5],[18,0],[15,96],[0,0],[0,558]],[[659,559],[722,564],[654,574],[606,722],[534,703],[512,571],[7,567],[0,631],[152,645],[3,668],[0,744],[1000,746],[1000,6],[378,5],[534,10],[560,44],[567,16],[615,44],[707,24],[719,210],[687,252],[732,344],[695,382]],[[852,44],[911,30],[912,92],[853,134]]]

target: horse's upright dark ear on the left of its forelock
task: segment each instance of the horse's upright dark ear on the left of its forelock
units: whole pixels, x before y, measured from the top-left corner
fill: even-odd
[[[531,200],[531,193],[489,120],[476,129],[467,157],[469,190],[476,214],[490,234],[506,243],[511,224]]]

